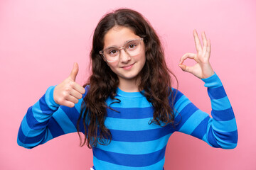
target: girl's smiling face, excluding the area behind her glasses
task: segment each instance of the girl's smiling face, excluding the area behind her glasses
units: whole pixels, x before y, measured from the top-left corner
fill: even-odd
[[[123,47],[125,42],[140,38],[133,30],[126,27],[115,26],[110,29],[104,37],[104,49],[112,46]],[[119,59],[115,62],[107,62],[110,69],[117,74],[119,81],[134,79],[144,67],[145,46],[143,40],[140,42],[141,50],[138,55],[130,56],[124,50],[120,50]]]

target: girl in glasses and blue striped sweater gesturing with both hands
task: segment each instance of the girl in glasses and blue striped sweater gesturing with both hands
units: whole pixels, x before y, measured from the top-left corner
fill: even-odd
[[[33,148],[70,132],[93,151],[93,169],[164,169],[165,149],[174,132],[212,147],[235,148],[238,131],[223,85],[210,66],[210,40],[203,47],[193,31],[197,54],[179,67],[208,87],[213,118],[172,88],[172,74],[154,29],[142,14],[122,8],[104,16],[92,41],[92,75],[85,86],[70,76],[33,106],[21,122],[18,145]],[[196,61],[187,67],[187,58]],[[175,76],[174,76],[175,77]],[[80,136],[84,133],[85,139]]]

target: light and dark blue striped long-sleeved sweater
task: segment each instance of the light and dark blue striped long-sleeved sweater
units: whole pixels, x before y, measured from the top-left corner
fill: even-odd
[[[112,134],[110,145],[92,148],[93,164],[97,170],[161,170],[164,169],[165,150],[169,137],[174,132],[183,132],[197,137],[211,147],[233,149],[238,142],[238,131],[233,109],[223,85],[216,74],[202,79],[208,87],[212,118],[199,110],[180,91],[174,99],[175,127],[164,127],[154,123],[154,108],[140,92],[124,92],[117,89],[120,103],[107,104],[119,113],[107,109],[105,125]],[[82,99],[75,107],[59,106],[53,100],[50,86],[46,94],[28,108],[18,130],[18,145],[33,148],[48,140],[70,132],[77,132],[76,123],[80,115]],[[87,93],[87,88],[84,95]],[[84,96],[83,96],[84,97]],[[171,98],[170,98],[171,100]],[[80,130],[83,131],[82,121]]]

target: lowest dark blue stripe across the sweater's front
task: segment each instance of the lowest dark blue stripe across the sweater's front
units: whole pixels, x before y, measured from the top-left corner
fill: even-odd
[[[143,167],[156,164],[164,158],[166,147],[150,154],[117,154],[92,148],[93,155],[102,161],[123,166]]]

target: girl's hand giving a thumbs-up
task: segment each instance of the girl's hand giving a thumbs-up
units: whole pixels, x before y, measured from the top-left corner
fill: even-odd
[[[75,62],[69,77],[55,86],[53,91],[53,99],[55,103],[73,108],[75,103],[78,103],[78,99],[82,98],[82,94],[85,94],[85,89],[75,83],[77,75],[78,63]]]

